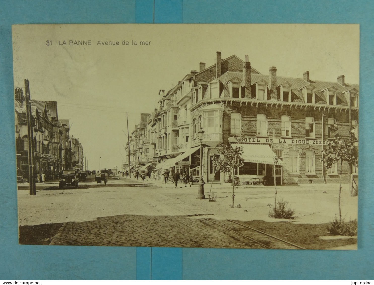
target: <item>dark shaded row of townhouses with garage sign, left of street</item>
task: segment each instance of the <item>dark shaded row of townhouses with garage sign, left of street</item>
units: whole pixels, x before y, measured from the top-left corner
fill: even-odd
[[[64,169],[83,170],[83,147],[70,135],[70,122],[59,119],[56,101],[31,100],[34,164],[37,173],[57,178]],[[17,176],[28,177],[28,134],[23,90],[15,89]]]

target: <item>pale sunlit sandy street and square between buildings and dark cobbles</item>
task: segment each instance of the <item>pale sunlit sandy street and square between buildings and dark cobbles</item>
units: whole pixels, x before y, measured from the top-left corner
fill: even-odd
[[[126,181],[126,183],[143,184],[136,180]],[[221,185],[213,185],[211,195],[217,198],[215,202],[209,202],[208,199],[197,199],[197,185],[191,188],[181,185],[175,189],[171,183],[166,185],[152,183],[150,187],[118,187],[120,183],[125,183],[125,180],[111,179],[107,186],[95,186],[95,182],[83,182],[80,183],[79,189],[39,190],[36,196],[28,195],[28,190],[18,190],[19,225],[82,222],[97,217],[122,214],[214,214],[217,219],[281,221],[268,217],[275,199],[275,188],[270,186],[235,189],[235,208],[230,208],[232,188],[223,188]],[[286,221],[331,222],[338,213],[338,186],[337,184],[278,186],[278,201],[283,199],[289,202],[289,206],[295,210],[296,218]],[[209,196],[209,189],[210,185],[206,184],[206,197]],[[237,207],[238,204],[241,208]],[[343,185],[342,217],[346,220],[357,219],[357,205],[357,197],[350,196],[348,185]]]

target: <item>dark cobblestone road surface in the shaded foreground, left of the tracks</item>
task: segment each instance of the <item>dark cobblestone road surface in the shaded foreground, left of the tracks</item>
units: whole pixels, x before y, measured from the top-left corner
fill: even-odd
[[[51,244],[261,248],[254,242],[224,231],[195,217],[119,215],[100,217],[95,221],[64,223]]]

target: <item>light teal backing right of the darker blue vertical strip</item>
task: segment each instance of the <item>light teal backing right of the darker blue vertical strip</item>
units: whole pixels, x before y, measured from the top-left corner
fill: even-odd
[[[371,1],[183,2],[184,23],[360,24],[357,251],[183,249],[183,279],[374,279],[373,21]],[[219,31],[218,31],[219,32]],[[240,37],[240,35],[237,35]],[[302,44],[302,43],[300,43]],[[337,43],[344,44],[344,43]],[[321,43],[321,48],[323,44]],[[321,67],[323,68],[323,66]]]

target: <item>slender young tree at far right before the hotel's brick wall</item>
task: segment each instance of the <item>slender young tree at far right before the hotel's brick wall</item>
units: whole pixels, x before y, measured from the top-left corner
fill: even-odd
[[[333,138],[328,139],[328,149],[324,151],[324,158],[321,159],[327,168],[331,168],[333,165],[335,165],[335,163],[340,164],[340,183],[338,196],[340,220],[341,172],[343,171],[343,162],[348,162],[349,165],[357,165],[358,149],[355,146],[356,142],[357,139],[352,132],[349,133],[349,139],[342,139],[337,133]]]

